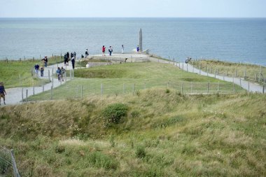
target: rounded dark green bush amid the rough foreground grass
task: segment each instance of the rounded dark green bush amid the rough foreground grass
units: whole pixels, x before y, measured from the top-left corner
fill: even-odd
[[[125,104],[111,104],[104,108],[102,116],[105,120],[104,125],[110,126],[112,124],[120,123],[121,118],[127,115],[128,107]]]

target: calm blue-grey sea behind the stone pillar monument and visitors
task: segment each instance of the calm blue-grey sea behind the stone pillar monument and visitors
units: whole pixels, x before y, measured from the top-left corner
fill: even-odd
[[[143,49],[160,57],[266,66],[266,18],[0,18],[0,59],[132,52],[140,29]]]

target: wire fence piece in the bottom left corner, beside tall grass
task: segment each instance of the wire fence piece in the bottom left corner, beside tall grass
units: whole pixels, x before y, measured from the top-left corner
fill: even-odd
[[[0,176],[20,177],[13,150],[8,150],[2,146],[0,146]]]

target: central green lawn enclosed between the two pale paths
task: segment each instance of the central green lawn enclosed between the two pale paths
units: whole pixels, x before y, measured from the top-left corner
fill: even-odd
[[[228,93],[244,92],[237,85],[227,83],[216,78],[200,76],[177,69],[172,64],[160,63],[127,63],[109,66],[92,67],[90,69],[76,69],[75,79],[52,91],[52,99],[74,99],[91,97],[102,94],[137,94],[139,90],[152,87],[174,88],[183,93]],[[82,86],[82,87],[81,87]],[[82,90],[82,91],[81,91]],[[29,100],[50,99],[51,92],[36,94]]]

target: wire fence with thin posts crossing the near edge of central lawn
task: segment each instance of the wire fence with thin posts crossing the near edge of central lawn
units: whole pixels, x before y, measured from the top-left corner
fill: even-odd
[[[214,94],[214,93],[236,93],[245,92],[235,83],[102,83],[91,85],[62,85],[57,88],[50,88],[40,94],[34,94],[31,97],[23,97],[23,101],[39,101],[52,99],[84,99],[92,96],[111,96],[124,94],[138,94],[141,90],[161,88],[165,90],[174,90],[181,94]],[[25,90],[24,90],[25,91]],[[23,95],[23,92],[22,92]]]

